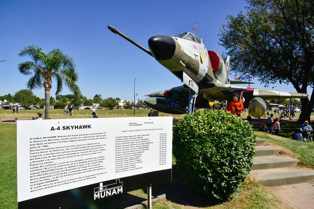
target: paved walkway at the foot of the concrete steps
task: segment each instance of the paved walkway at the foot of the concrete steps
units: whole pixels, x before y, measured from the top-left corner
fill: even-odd
[[[266,187],[283,205],[289,208],[314,208],[314,182]]]

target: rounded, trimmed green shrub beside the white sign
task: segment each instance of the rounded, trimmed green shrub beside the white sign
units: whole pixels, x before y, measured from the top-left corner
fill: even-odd
[[[173,131],[173,155],[185,181],[198,192],[226,200],[237,192],[253,165],[252,126],[226,111],[196,111]]]

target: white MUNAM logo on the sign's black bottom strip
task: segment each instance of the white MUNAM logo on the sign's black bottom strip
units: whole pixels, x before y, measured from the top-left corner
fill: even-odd
[[[99,187],[94,188],[94,200],[104,198],[111,195],[122,193],[122,182],[120,179],[116,179],[116,183],[103,186],[103,183],[99,183]]]

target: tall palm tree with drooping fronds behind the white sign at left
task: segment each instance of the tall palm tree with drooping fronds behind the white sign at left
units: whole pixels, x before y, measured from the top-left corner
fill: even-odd
[[[81,91],[75,83],[78,80],[78,73],[75,71],[75,63],[68,55],[64,55],[60,49],[54,49],[48,54],[37,46],[22,48],[19,56],[30,56],[33,61],[19,64],[19,71],[24,75],[32,75],[27,82],[27,88],[45,88],[45,119],[49,118],[49,100],[52,79],[56,80],[56,95],[60,94],[65,84],[74,94],[75,98],[81,96]]]

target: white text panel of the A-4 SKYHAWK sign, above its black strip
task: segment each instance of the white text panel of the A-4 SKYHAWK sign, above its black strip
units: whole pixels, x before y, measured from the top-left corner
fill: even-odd
[[[172,117],[17,121],[18,202],[171,161]]]

